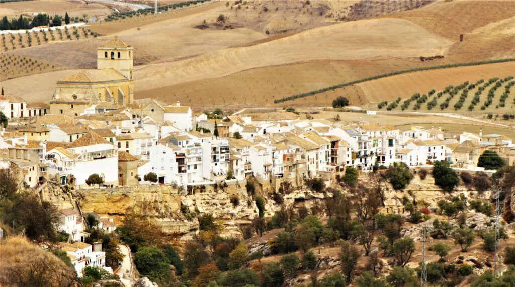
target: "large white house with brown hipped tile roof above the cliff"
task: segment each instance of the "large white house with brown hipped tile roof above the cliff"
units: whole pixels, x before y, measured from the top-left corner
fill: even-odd
[[[47,151],[46,161],[56,164],[78,187],[87,187],[86,180],[98,174],[104,184],[118,183],[118,149],[96,133],[89,132],[64,147]]]

